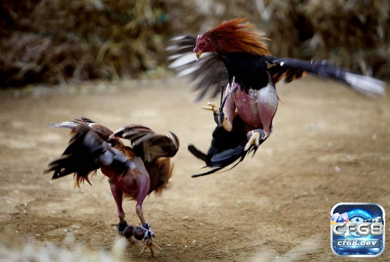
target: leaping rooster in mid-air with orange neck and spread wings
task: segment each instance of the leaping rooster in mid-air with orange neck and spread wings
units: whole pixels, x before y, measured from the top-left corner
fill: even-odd
[[[197,89],[203,89],[199,99],[209,87],[219,90],[227,83],[220,107],[214,103],[202,107],[213,111],[218,124],[208,154],[189,145],[189,150],[207,166],[216,167],[200,175],[214,173],[238,159],[242,161],[247,153],[255,152],[270,136],[278,106],[275,83],[282,79],[291,82],[308,72],[343,81],[371,97],[385,93],[384,82],[348,72],[325,61],[272,56],[263,44],[261,34],[251,30],[252,25],[244,23],[245,20],[223,21],[196,39],[189,35],[176,37],[173,39],[175,44],[169,48],[174,50],[170,67],[178,70],[179,75],[191,75],[193,80],[199,80]],[[191,50],[196,53],[197,60],[205,55],[199,61],[189,59],[186,53]]]

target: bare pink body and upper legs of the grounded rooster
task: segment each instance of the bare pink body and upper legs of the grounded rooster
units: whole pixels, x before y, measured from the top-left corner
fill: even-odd
[[[150,178],[143,161],[139,157],[135,157],[132,162],[135,163],[136,167],[134,169],[127,170],[126,175],[123,177],[117,176],[116,170],[112,170],[109,167],[101,167],[101,172],[112,182],[110,187],[114,200],[117,204],[120,222],[123,223],[125,218],[125,213],[122,208],[122,198],[124,192],[128,195],[137,197],[136,213],[141,221],[141,224],[145,224],[142,203],[149,193]]]

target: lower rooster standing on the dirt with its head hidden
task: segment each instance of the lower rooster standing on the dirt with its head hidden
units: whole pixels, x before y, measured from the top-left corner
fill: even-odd
[[[144,239],[139,255],[149,247],[153,256],[153,246],[160,248],[152,237],[155,236],[149,223],[144,219],[142,203],[145,197],[155,191],[160,193],[172,175],[171,157],[176,155],[179,140],[175,134],[168,136],[156,134],[142,125],[126,125],[112,132],[107,127],[87,118],[74,121],[48,123],[52,127],[72,129],[73,135],[62,156],[49,163],[46,172],[54,171],[52,179],[74,174],[75,185],[90,180],[88,176],[101,172],[108,177],[111,192],[117,204],[118,231],[127,238],[134,236]],[[126,146],[120,138],[128,139]],[[122,199],[130,197],[137,201],[136,213],[141,226],[128,225],[124,220]]]

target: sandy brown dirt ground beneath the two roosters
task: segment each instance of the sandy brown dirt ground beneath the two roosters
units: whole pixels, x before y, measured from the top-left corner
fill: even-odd
[[[68,130],[44,123],[74,116],[111,129],[142,123],[180,139],[169,188],[144,202],[166,252],[138,257],[141,243],[129,243],[125,261],[344,261],[330,247],[333,205],[377,202],[390,210],[390,96],[374,101],[312,77],[279,84],[274,130],[255,156],[191,178],[204,169],[187,145],[206,151],[215,127],[212,113],[199,109],[208,100],[194,103],[191,89],[168,79],[0,91],[1,238],[112,249],[118,219],[105,177],[98,172],[93,186],[78,189],[72,176],[43,174],[69,139]],[[138,225],[135,202],[124,209]],[[389,261],[389,248],[387,237],[372,260]]]

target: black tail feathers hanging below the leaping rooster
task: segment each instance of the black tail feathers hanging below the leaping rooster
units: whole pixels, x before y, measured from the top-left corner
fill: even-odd
[[[257,150],[255,145],[252,145],[247,151],[244,150],[244,147],[248,142],[247,129],[249,129],[247,124],[239,115],[237,115],[233,120],[232,131],[226,131],[223,126],[217,126],[215,128],[213,140],[211,141],[211,146],[207,155],[199,151],[194,145],[188,145],[188,150],[195,157],[206,163],[205,167],[215,167],[205,173],[193,175],[192,177],[213,174],[238,160],[238,162],[234,164],[234,166],[236,166],[244,160],[249,152],[253,151],[253,153],[255,153]],[[265,140],[261,140],[260,144],[264,141]]]

